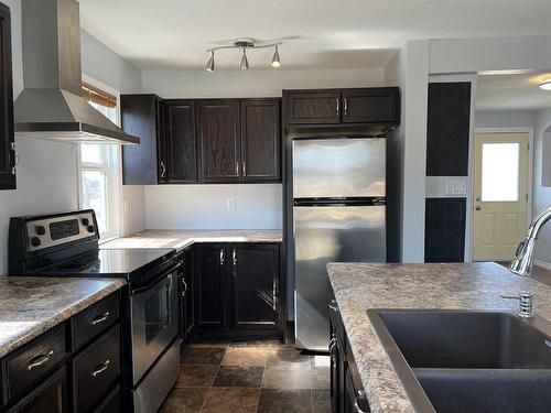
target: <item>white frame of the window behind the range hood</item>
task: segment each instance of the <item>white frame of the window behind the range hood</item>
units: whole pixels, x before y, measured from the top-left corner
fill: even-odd
[[[112,87],[102,84],[85,74],[83,80],[91,86],[98,87],[117,98],[117,112],[116,123],[120,126],[120,91]],[[84,194],[83,194],[83,172],[88,171],[102,171],[107,177],[107,215],[108,215],[108,230],[100,232],[100,243],[110,241],[120,237],[123,231],[122,228],[122,166],[121,166],[121,149],[119,144],[104,144],[105,145],[105,163],[101,165],[88,164],[84,165],[80,156],[80,146],[77,151],[77,171],[78,171],[78,206],[83,208]]]

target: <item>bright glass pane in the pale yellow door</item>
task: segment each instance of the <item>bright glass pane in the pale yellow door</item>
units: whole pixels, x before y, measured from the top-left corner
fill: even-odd
[[[518,142],[483,143],[483,202],[519,200],[519,152]]]

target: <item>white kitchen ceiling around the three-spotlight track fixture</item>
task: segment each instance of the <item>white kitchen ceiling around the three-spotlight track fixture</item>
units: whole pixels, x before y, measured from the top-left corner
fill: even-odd
[[[407,40],[551,34],[549,0],[79,0],[84,30],[142,69],[202,69],[205,50],[283,39],[281,69],[380,68]],[[268,69],[271,50],[249,53]],[[216,55],[237,69],[240,51]]]

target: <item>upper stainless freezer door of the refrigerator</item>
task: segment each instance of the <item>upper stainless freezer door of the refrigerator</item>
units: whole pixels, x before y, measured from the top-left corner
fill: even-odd
[[[293,141],[293,197],[383,197],[382,138]]]

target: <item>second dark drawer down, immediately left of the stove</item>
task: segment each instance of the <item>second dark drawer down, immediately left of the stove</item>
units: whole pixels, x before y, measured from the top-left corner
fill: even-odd
[[[120,378],[120,326],[117,324],[72,360],[74,412],[91,412]]]

